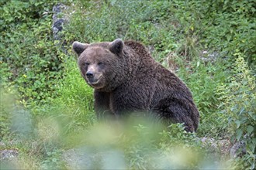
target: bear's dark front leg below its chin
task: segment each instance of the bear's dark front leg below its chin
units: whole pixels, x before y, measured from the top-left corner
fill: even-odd
[[[101,92],[95,90],[94,97],[94,107],[95,113],[99,121],[112,120],[115,116],[109,108],[109,96],[107,92]]]

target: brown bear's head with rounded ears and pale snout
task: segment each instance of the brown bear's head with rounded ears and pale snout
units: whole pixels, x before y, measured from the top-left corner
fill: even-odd
[[[96,90],[109,91],[122,83],[126,73],[122,39],[86,44],[73,42],[81,76]]]

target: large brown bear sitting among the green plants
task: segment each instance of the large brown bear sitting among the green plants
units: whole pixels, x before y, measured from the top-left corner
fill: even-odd
[[[74,42],[81,76],[94,88],[99,119],[148,113],[196,131],[199,111],[185,83],[157,63],[139,42],[116,39],[91,44]]]

